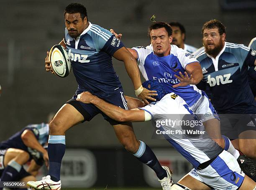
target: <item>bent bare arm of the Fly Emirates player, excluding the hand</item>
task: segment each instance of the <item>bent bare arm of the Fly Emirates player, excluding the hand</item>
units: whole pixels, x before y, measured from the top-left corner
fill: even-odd
[[[199,62],[191,63],[186,66],[187,73],[193,76],[192,84],[198,84],[203,78],[202,68]]]

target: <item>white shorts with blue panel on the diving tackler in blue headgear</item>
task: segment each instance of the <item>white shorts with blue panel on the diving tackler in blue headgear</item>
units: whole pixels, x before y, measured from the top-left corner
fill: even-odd
[[[245,176],[236,158],[225,150],[205,169],[194,168],[189,175],[215,190],[237,190]]]

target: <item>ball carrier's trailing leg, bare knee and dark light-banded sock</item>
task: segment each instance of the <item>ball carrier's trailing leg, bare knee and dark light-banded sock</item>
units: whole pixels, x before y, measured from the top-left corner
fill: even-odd
[[[151,148],[144,142],[136,139],[131,123],[113,125],[113,128],[118,140],[128,152],[132,153],[139,161],[151,167],[160,180],[167,177],[166,170],[161,167]]]

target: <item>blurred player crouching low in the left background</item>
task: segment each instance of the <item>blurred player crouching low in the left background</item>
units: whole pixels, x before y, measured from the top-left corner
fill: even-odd
[[[49,115],[51,122],[53,115]],[[49,165],[47,141],[49,124],[30,124],[0,143],[0,179],[1,181],[31,181],[39,168]],[[32,160],[33,159],[33,160]],[[26,171],[23,165],[28,161],[31,165]],[[0,189],[2,189],[0,187]]]

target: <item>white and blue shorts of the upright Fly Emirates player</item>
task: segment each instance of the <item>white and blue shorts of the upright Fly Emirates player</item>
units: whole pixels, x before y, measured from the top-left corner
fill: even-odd
[[[195,112],[198,119],[202,122],[215,118],[220,120],[217,112],[204,91],[202,91],[200,99],[198,99],[195,104],[190,106],[190,108]]]

